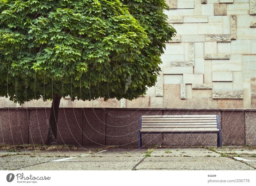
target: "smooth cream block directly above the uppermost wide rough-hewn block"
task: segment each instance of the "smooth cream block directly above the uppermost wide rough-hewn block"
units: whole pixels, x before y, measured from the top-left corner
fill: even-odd
[[[198,23],[198,34],[223,34],[223,24]]]

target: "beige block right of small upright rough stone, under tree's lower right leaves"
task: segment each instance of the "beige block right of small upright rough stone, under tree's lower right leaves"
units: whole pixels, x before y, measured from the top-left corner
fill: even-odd
[[[126,108],[150,108],[150,97],[138,97],[132,101],[126,100]]]

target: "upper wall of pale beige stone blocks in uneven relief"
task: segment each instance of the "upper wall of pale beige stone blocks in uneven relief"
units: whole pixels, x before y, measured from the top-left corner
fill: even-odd
[[[166,0],[177,36],[162,73],[133,101],[62,99],[60,107],[256,108],[256,0]],[[0,107],[16,107],[0,98]],[[31,101],[22,107],[50,107]]]

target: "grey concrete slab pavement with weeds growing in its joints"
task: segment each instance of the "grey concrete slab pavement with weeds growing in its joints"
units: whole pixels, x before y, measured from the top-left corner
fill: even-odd
[[[1,170],[256,170],[253,148],[0,151]]]

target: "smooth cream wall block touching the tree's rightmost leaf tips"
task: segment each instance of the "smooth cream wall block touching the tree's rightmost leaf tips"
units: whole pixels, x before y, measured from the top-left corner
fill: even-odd
[[[177,33],[180,35],[197,35],[198,33],[198,23],[174,23],[173,27],[176,29]],[[203,24],[203,23],[200,23]]]

